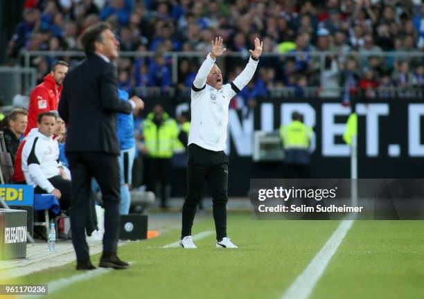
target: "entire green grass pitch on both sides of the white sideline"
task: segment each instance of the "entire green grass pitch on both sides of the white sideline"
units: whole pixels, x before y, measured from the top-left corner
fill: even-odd
[[[161,248],[179,230],[119,248],[134,264],[76,282],[48,298],[281,298],[339,221],[258,221],[230,213],[229,237],[240,248],[215,248],[215,235],[195,250]],[[195,223],[193,235],[213,230]],[[424,298],[424,221],[355,221],[310,298]],[[92,261],[98,264],[99,255]],[[75,263],[21,278],[42,284],[79,274]]]

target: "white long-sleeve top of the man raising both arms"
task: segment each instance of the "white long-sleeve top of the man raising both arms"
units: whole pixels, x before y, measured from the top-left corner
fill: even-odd
[[[258,61],[249,58],[245,69],[237,78],[222,89],[206,84],[206,78],[215,60],[211,54],[200,66],[191,89],[191,125],[188,145],[194,143],[215,152],[227,147],[229,102],[253,78]]]

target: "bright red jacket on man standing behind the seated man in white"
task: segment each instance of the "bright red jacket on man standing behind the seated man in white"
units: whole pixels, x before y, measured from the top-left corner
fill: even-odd
[[[28,108],[28,125],[25,135],[31,129],[37,127],[37,117],[40,113],[51,110],[58,110],[62,85],[56,88],[56,81],[52,75],[44,77],[44,82],[38,84],[30,95],[30,105]]]

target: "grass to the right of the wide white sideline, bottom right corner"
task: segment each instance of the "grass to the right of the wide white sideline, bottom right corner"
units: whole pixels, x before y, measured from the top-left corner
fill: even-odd
[[[311,299],[424,298],[424,221],[355,221]]]

